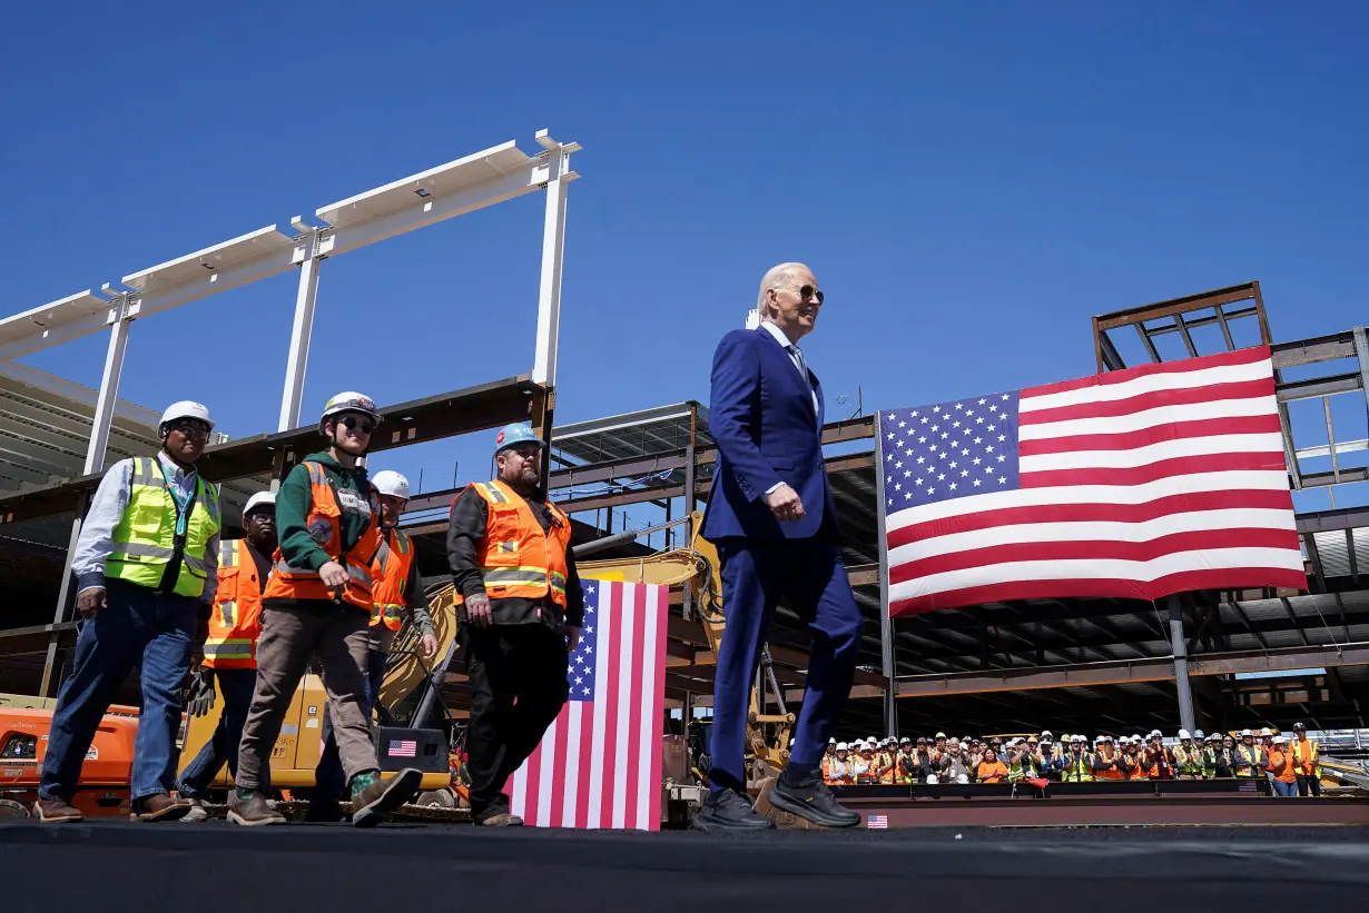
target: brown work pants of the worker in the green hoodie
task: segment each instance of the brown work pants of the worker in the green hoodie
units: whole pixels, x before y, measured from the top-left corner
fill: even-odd
[[[311,656],[318,656],[323,664],[329,719],[348,782],[363,771],[381,768],[366,706],[368,628],[370,617],[360,610],[341,609],[331,602],[320,602],[318,608],[263,608],[256,691],[238,746],[240,787],[271,787],[271,749]],[[303,732],[300,738],[305,738]]]

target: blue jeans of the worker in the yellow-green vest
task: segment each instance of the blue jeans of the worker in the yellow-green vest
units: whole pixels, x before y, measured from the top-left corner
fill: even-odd
[[[57,694],[38,798],[70,802],[100,719],[134,665],[142,667],[142,712],[133,746],[134,801],[171,793],[181,687],[190,671],[196,601],[122,580],[105,583],[108,605],[81,624],[71,676]]]

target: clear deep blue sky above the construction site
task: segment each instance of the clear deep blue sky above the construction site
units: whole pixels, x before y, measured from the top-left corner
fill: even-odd
[[[8,14],[4,313],[549,127],[585,145],[565,422],[706,401],[780,260],[827,290],[805,350],[834,417],[857,387],[1090,374],[1091,315],[1249,279],[1280,339],[1365,320],[1364,4],[127,5]],[[541,219],[531,196],[324,263],[307,413],[527,371]],[[272,428],[293,298],[286,275],[134,324],[122,396]],[[27,361],[97,385],[104,346]],[[1362,400],[1336,419],[1365,437]],[[434,489],[486,453],[375,465]]]

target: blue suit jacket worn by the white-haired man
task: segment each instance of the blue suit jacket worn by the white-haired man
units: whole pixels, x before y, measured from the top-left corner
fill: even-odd
[[[734,330],[713,353],[709,431],[717,474],[704,513],[704,538],[801,539],[836,531],[823,465],[823,390],[813,397],[789,352],[764,329]],[[804,501],[802,520],[780,523],[765,491],[787,482]]]

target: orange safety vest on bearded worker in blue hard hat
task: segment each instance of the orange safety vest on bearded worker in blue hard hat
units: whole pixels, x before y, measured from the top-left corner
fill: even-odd
[[[565,608],[565,553],[571,545],[571,520],[559,506],[546,502],[552,512],[550,534],[533,516],[533,508],[513,489],[496,479],[471,486],[485,498],[490,519],[476,553],[485,591],[491,600],[541,600]],[[456,604],[465,600],[457,594]]]

